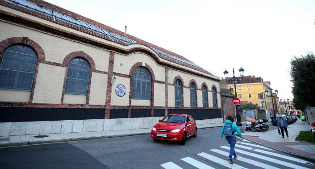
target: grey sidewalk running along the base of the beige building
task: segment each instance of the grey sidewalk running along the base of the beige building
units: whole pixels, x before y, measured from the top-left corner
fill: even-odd
[[[198,125],[198,128],[202,129],[202,128],[220,127],[222,125],[223,123],[200,124]],[[113,131],[45,134],[45,135],[4,136],[4,137],[0,137],[0,147],[28,145],[28,144],[42,144],[42,143],[50,143],[50,142],[89,140],[89,139],[99,139],[99,138],[123,137],[123,136],[149,134],[150,132],[151,132],[151,128],[134,129],[134,130],[113,130]]]

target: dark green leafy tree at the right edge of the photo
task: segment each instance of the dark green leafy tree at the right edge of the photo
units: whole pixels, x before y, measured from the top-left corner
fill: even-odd
[[[291,59],[291,81],[294,105],[303,110],[306,105],[315,106],[315,56],[306,52]]]

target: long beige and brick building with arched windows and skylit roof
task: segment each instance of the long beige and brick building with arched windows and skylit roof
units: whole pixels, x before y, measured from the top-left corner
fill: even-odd
[[[0,136],[223,121],[220,78],[181,55],[44,1],[0,14]]]

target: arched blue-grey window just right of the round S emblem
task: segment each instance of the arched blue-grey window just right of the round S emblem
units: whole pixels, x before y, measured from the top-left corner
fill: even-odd
[[[133,73],[132,99],[151,99],[151,75],[147,68],[139,66]]]

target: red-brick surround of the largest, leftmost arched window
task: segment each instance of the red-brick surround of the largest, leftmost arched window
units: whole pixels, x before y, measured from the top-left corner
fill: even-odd
[[[45,61],[46,59],[45,52],[38,43],[29,39],[28,37],[11,37],[0,42],[0,65],[2,64],[2,58],[5,53],[5,50],[12,45],[18,45],[18,44],[27,45],[33,48],[37,54],[37,62],[36,62],[36,67],[35,67],[33,83],[32,83],[30,100],[29,100],[29,103],[32,103],[33,97],[34,97],[34,90],[36,86],[39,63],[42,61]]]

